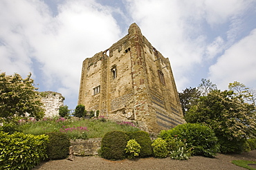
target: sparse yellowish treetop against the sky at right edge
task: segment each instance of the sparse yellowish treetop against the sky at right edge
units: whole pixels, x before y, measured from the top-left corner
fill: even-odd
[[[244,85],[243,83],[239,83],[237,81],[229,83],[228,89],[232,90],[234,92],[234,95],[237,96],[241,100],[241,102],[246,101],[255,105],[256,96],[254,89],[250,89],[249,87],[246,87],[246,85]]]

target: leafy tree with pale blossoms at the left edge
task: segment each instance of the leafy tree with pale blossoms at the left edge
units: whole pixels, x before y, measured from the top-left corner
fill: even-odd
[[[29,114],[37,119],[44,116],[41,96],[29,74],[23,79],[15,73],[11,76],[0,74],[0,117],[12,120],[13,116]]]

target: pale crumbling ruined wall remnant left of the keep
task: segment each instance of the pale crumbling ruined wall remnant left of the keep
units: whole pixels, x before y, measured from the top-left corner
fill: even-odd
[[[44,117],[59,116],[59,108],[64,105],[64,97],[57,92],[40,92],[42,103],[44,104]]]

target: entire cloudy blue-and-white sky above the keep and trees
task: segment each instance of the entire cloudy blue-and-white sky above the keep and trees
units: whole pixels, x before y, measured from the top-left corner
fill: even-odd
[[[170,59],[179,92],[210,78],[256,89],[255,0],[0,0],[0,70],[77,105],[82,61],[137,23]]]

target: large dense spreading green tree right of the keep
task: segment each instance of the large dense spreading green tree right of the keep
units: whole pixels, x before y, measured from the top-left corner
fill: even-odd
[[[246,138],[254,136],[255,107],[233,96],[232,91],[212,91],[185,115],[188,123],[203,123],[214,130],[221,151],[239,152]]]

